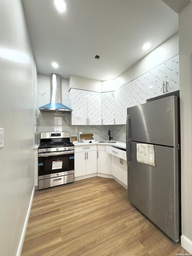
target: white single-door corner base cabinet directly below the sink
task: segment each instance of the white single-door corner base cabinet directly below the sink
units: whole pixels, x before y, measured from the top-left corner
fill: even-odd
[[[98,145],[97,149],[97,172],[112,175],[112,155],[106,152],[105,145]]]

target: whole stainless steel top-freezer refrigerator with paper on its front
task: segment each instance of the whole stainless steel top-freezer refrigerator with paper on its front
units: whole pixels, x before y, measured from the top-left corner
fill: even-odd
[[[179,130],[178,96],[127,109],[128,200],[176,242],[180,239]]]

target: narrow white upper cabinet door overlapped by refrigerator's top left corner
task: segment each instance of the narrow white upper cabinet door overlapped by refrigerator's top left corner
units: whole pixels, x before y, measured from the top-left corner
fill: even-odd
[[[127,121],[127,108],[132,107],[132,89],[131,82],[121,87],[121,114],[122,124],[126,124]]]

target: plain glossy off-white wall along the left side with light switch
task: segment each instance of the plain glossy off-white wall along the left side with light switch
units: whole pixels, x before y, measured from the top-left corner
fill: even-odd
[[[0,254],[16,255],[34,186],[34,58],[20,0],[0,1]]]

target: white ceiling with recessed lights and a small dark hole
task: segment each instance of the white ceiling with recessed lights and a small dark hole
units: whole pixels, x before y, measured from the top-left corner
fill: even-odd
[[[22,3],[38,73],[66,79],[116,78],[178,31],[178,14],[161,0],[65,0],[63,13],[53,0]]]

